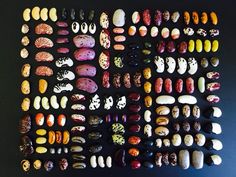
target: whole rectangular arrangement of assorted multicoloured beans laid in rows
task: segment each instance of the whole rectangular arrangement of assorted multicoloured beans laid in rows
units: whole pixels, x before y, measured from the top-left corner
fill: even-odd
[[[26,8],[22,169],[220,165],[218,16]]]

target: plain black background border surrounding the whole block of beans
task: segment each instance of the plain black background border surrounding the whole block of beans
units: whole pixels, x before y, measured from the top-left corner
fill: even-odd
[[[222,125],[223,134],[220,139],[224,148],[219,154],[223,158],[223,163],[219,167],[204,166],[202,170],[182,170],[179,167],[162,167],[153,170],[130,170],[130,169],[86,169],[83,171],[71,171],[70,176],[168,176],[168,177],[236,177],[236,119],[235,119],[235,85],[236,85],[236,55],[235,55],[235,27],[236,15],[233,0],[226,1],[1,1],[0,10],[0,177],[26,176],[20,167],[22,155],[18,152],[19,134],[17,131],[19,115],[21,115],[19,105],[21,96],[19,92],[20,67],[18,60],[20,50],[20,27],[22,25],[22,11],[26,7],[78,7],[84,9],[98,9],[102,11],[109,9],[113,11],[117,8],[123,8],[126,12],[134,10],[150,9],[168,9],[169,11],[184,10],[189,11],[211,11],[217,12],[219,17],[220,29],[220,66],[222,89],[218,94],[221,97],[220,107],[223,110],[223,117],[219,121]],[[51,173],[45,170],[32,170],[27,176],[69,176],[68,172],[53,171]]]

